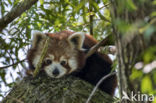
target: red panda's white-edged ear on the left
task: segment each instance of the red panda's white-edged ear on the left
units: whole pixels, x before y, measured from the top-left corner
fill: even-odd
[[[31,34],[33,35],[32,48],[35,48],[40,42],[42,42],[46,38],[46,35],[44,33],[37,30],[33,30]]]

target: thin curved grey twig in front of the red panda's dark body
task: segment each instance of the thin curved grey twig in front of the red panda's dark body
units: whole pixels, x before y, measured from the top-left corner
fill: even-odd
[[[96,84],[96,86],[94,87],[94,89],[92,90],[92,92],[91,92],[91,94],[89,95],[89,97],[88,97],[86,103],[89,103],[89,101],[91,100],[92,96],[93,96],[94,93],[96,92],[96,90],[97,90],[97,88],[99,87],[99,85],[100,85],[104,80],[106,80],[107,78],[109,78],[109,77],[111,77],[111,76],[113,76],[113,75],[115,75],[115,74],[116,74],[116,72],[112,72],[112,73],[109,73],[109,74],[105,75],[104,77],[102,77],[102,78],[98,81],[98,83]]]

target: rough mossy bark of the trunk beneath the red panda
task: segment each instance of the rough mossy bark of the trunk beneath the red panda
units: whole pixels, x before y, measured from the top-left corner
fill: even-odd
[[[93,86],[67,76],[52,79],[45,74],[25,77],[17,83],[2,103],[85,103]],[[112,96],[97,90],[89,103],[113,103]]]

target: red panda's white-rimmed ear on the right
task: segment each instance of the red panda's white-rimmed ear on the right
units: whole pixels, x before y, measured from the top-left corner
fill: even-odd
[[[83,32],[76,32],[68,37],[69,43],[78,50],[82,48],[84,39],[85,39],[85,33]]]

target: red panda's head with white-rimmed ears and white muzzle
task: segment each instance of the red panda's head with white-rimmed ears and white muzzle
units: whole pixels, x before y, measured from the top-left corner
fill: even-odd
[[[50,37],[48,50],[42,63],[42,69],[53,78],[70,74],[85,64],[85,53],[82,46],[85,34],[82,32],[41,33],[33,32],[32,47],[28,53],[31,67],[38,65],[46,36]]]

